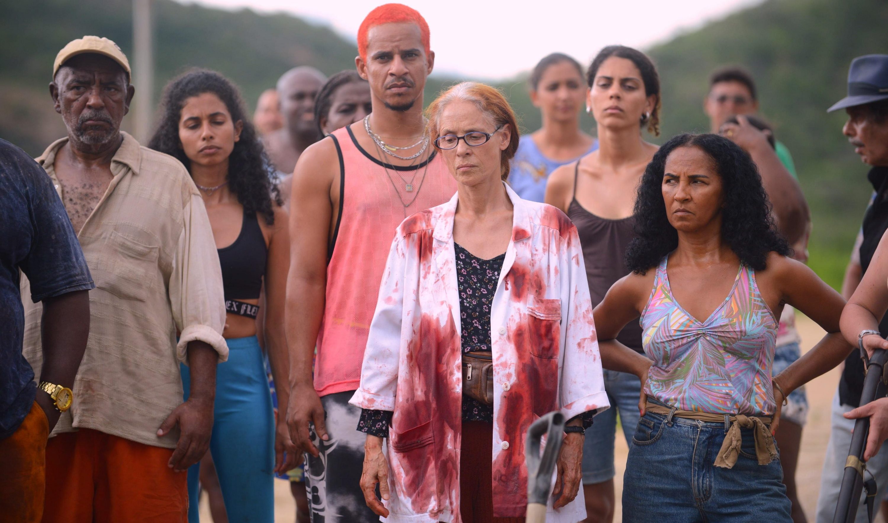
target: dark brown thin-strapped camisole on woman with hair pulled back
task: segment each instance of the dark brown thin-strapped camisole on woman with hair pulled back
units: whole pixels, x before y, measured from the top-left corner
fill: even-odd
[[[580,172],[580,162],[574,168],[574,196],[567,207],[567,217],[576,225],[583,246],[583,261],[586,262],[586,278],[589,280],[589,294],[592,305],[597,306],[605,298],[607,290],[616,280],[629,274],[626,268],[626,247],[635,232],[635,216],[622,220],[607,220],[591,214],[576,201],[576,181]],[[626,347],[643,352],[641,346],[641,324],[633,320],[623,327],[616,339]]]

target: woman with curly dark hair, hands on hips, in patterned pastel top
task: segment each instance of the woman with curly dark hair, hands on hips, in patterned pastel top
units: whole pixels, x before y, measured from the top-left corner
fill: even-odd
[[[789,257],[755,163],[725,137],[664,144],[642,176],[635,219],[632,273],[594,311],[602,364],[644,384],[623,520],[789,523],[773,433],[786,395],[848,355],[844,300]],[[828,333],[772,378],[785,305]],[[615,340],[638,316],[645,355]]]

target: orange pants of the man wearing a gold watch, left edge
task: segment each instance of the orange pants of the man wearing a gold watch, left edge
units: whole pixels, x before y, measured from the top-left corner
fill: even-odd
[[[44,452],[50,424],[34,402],[11,436],[0,440],[0,521],[37,523],[44,511]]]

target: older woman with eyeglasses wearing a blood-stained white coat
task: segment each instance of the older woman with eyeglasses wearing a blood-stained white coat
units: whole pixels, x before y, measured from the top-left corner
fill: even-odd
[[[523,521],[527,428],[560,410],[546,520],[575,523],[583,431],[609,406],[576,228],[503,182],[518,125],[498,90],[457,84],[429,129],[457,191],[392,242],[352,399],[361,488],[389,521]]]

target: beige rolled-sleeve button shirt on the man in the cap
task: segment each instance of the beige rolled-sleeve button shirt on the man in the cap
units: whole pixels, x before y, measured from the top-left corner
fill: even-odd
[[[66,142],[37,158],[60,197],[54,162]],[[161,438],[157,429],[183,401],[179,362],[188,343],[208,343],[220,362],[228,357],[222,271],[201,195],[178,160],[123,133],[111,172],[77,233],[96,288],[74,402],[53,434],[90,428],[171,449],[178,431]],[[28,286],[23,277],[22,296]],[[24,307],[24,354],[39,382],[43,307],[30,300]]]

